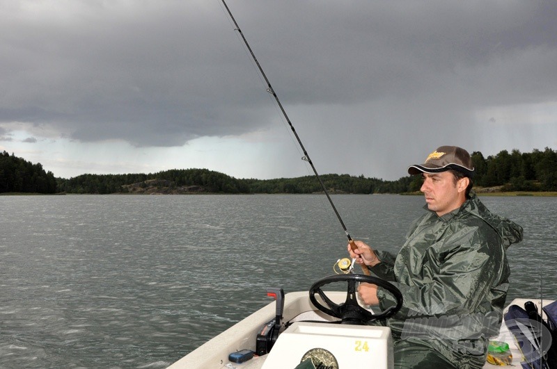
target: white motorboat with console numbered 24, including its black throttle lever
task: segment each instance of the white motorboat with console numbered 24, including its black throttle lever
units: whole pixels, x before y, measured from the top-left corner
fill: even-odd
[[[323,286],[338,281],[347,281],[347,291],[323,291]],[[361,325],[361,320],[372,315],[388,318],[400,308],[402,297],[395,309],[377,313],[363,306],[355,293],[355,285],[363,281],[388,284],[362,274],[336,274],[315,282],[309,293],[284,294],[281,288],[269,288],[267,295],[274,297],[274,302],[196,348],[169,369],[295,369],[306,368],[307,360],[313,364],[307,368],[317,369],[370,368],[370,363],[372,368],[393,368],[391,330]],[[533,303],[540,317],[547,320],[542,306],[551,302],[554,301],[515,299],[503,314],[507,317],[511,306]],[[523,368],[521,363],[528,353],[524,352],[524,345],[521,344],[522,350],[519,348],[515,336],[516,332],[513,334],[503,320],[499,335],[490,340],[508,345],[503,354],[508,368]],[[486,362],[483,368],[499,366]]]

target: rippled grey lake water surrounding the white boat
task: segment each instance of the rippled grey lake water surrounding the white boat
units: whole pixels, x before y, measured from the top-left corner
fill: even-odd
[[[396,252],[423,197],[334,195],[352,238]],[[557,298],[557,198],[482,197],[524,227],[514,297]],[[0,197],[0,367],[165,368],[347,256],[323,195]],[[543,277],[543,284],[540,283]]]

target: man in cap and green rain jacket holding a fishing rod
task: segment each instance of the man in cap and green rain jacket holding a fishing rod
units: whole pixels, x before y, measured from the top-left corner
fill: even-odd
[[[397,256],[361,241],[348,251],[356,262],[398,287],[402,309],[391,327],[396,368],[482,368],[508,290],[505,249],[522,228],[490,213],[471,190],[469,153],[441,146],[408,173],[423,176],[428,212],[411,225]],[[383,288],[361,284],[363,302],[395,304]]]

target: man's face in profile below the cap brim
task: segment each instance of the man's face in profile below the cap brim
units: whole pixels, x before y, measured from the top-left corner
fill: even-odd
[[[459,179],[455,183],[455,177],[450,172],[435,174],[423,173],[423,185],[420,188],[425,195],[427,208],[441,216],[455,208],[460,208],[466,196],[464,191],[468,186],[468,179]]]

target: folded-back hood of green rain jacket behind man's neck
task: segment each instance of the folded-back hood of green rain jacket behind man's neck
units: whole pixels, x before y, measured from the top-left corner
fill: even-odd
[[[508,248],[513,243],[519,243],[522,240],[523,229],[512,220],[503,218],[489,211],[485,205],[480,202],[476,193],[470,192],[471,198],[466,200],[464,203],[464,211],[476,215],[481,218],[484,222],[489,224],[503,240],[503,246]]]

